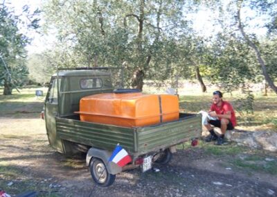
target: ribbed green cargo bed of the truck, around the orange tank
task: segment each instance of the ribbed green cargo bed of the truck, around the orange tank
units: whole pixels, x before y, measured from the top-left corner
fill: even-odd
[[[56,117],[56,126],[60,139],[111,151],[119,143],[130,155],[136,156],[199,137],[201,119],[201,114],[180,113],[177,121],[125,128],[80,121],[78,115],[72,115]]]

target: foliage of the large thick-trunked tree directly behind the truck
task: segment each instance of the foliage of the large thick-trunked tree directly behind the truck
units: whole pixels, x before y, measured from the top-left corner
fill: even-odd
[[[185,6],[183,1],[82,0],[48,1],[44,10],[65,53],[78,57],[71,66],[123,65],[129,78],[137,69],[165,78],[176,65],[170,52],[189,30]]]

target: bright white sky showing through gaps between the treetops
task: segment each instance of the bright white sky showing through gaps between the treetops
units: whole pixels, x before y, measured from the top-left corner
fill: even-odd
[[[20,14],[22,7],[24,5],[30,6],[30,10],[34,11],[37,8],[41,8],[43,1],[40,0],[6,0],[6,3],[11,7],[15,8],[15,13]],[[7,5],[7,6],[8,6]],[[244,10],[242,12],[242,18],[253,17],[255,13],[250,9]],[[220,27],[215,25],[215,19],[218,17],[216,13],[211,12],[211,10],[200,9],[197,14],[191,14],[186,16],[188,19],[194,19],[193,28],[199,35],[204,37],[208,37],[213,35],[214,33],[220,31]],[[251,20],[248,22],[250,24],[250,28],[246,29],[248,33],[255,32],[256,35],[262,36],[266,33],[266,28],[257,28],[256,24],[262,24],[265,18],[256,17],[255,20]],[[41,24],[44,22],[42,18]],[[44,49],[51,49],[52,44],[55,42],[55,35],[39,35],[39,33],[31,33],[30,35],[33,37],[33,42],[27,46],[28,53],[40,53],[44,51]]]

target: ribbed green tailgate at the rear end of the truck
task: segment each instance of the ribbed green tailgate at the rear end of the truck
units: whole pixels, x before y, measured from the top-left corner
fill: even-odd
[[[202,133],[202,115],[180,114],[178,121],[137,128],[136,131],[136,151],[141,155],[200,137]]]

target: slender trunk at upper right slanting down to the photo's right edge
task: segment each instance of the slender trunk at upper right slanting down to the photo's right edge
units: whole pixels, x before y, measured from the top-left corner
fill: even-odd
[[[269,74],[267,73],[267,67],[265,66],[265,61],[262,59],[262,55],[260,54],[258,47],[249,39],[249,37],[244,32],[244,29],[242,27],[242,22],[240,20],[240,9],[242,6],[242,2],[243,0],[238,1],[238,28],[240,29],[240,32],[242,33],[242,37],[244,37],[244,40],[246,40],[247,44],[249,44],[249,46],[253,49],[253,51],[255,51],[256,57],[262,69],[262,74],[265,76],[265,80],[267,80],[269,87],[271,87],[271,89],[277,94],[277,87],[276,85],[274,85],[274,81],[271,80]]]

